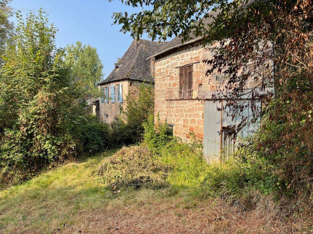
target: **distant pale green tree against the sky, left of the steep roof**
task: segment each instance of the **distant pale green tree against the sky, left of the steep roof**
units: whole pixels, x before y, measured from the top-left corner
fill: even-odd
[[[71,67],[73,80],[86,88],[85,97],[98,97],[96,84],[103,78],[103,65],[97,49],[77,41],[76,45],[66,46],[65,61]]]

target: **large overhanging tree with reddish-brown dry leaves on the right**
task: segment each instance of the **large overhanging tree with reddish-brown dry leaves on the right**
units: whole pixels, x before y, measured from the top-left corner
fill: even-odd
[[[313,136],[313,43],[312,5],[306,0],[121,0],[148,9],[128,15],[115,12],[114,23],[133,37],[143,33],[165,40],[180,35],[203,37],[204,46],[214,52],[207,71],[222,73],[218,95],[213,98],[251,97],[249,104],[228,101],[229,115],[250,107],[255,121],[264,116],[263,126],[248,147],[274,165],[286,184],[282,189],[299,191],[312,181]],[[207,19],[210,23],[206,23]],[[192,34],[191,34],[192,32]],[[213,46],[213,41],[218,41]],[[248,90],[249,80],[259,84]],[[222,84],[226,84],[226,87]],[[269,90],[274,87],[275,90]],[[255,101],[265,108],[257,110]],[[248,124],[247,118],[229,133]],[[232,131],[232,132],[231,132]],[[308,192],[310,193],[310,192]],[[300,194],[300,193],[299,193]]]

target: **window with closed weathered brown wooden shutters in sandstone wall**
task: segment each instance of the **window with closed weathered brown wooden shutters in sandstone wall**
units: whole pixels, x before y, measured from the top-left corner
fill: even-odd
[[[179,98],[192,98],[192,67],[179,68]]]

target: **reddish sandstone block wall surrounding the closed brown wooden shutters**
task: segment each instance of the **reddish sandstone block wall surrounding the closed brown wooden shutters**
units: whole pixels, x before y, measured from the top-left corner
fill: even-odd
[[[217,74],[205,76],[209,66],[202,60],[212,56],[211,51],[197,43],[155,59],[155,116],[159,113],[162,122],[166,120],[174,125],[174,135],[187,141],[189,132],[203,139],[204,101],[175,100],[179,98],[179,67],[193,63],[192,98],[195,99],[201,90],[215,90],[218,84],[215,81]]]

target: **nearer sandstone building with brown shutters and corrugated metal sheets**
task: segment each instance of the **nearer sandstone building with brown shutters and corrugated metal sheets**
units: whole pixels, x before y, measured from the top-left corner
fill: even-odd
[[[205,23],[211,20],[206,19]],[[193,35],[193,39],[184,44],[180,37],[175,37],[148,57],[155,65],[155,116],[159,113],[160,120],[167,121],[173,128],[173,134],[186,141],[190,140],[190,133],[194,133],[203,141],[208,162],[220,158],[223,151],[233,151],[235,139],[224,137],[223,133],[228,125],[239,123],[241,119],[238,116],[232,120],[225,111],[217,110],[223,107],[225,100],[212,100],[221,74],[206,76],[209,65],[202,62],[212,56],[212,51],[203,47],[202,37]],[[251,79],[247,87],[255,85]],[[249,97],[244,97],[240,101],[248,100]],[[260,108],[260,103],[257,106]],[[241,115],[249,116],[249,108],[243,112]],[[257,127],[256,124],[246,126],[240,134],[245,137]]]

